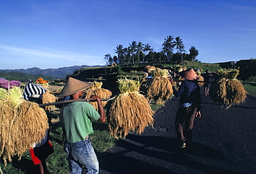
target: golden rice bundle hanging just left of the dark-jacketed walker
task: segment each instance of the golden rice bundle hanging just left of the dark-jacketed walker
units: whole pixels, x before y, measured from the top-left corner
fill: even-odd
[[[169,99],[173,93],[172,84],[167,78],[168,70],[158,70],[152,79],[145,81],[143,84],[146,89],[146,98],[151,101],[163,103],[164,99]]]

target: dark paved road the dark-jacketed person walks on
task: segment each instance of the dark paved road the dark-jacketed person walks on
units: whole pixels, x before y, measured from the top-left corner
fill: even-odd
[[[203,87],[201,87],[203,94]],[[190,148],[176,148],[173,97],[155,114],[154,128],[130,134],[98,154],[100,173],[255,173],[256,99],[226,110],[202,97],[202,117],[194,123]]]

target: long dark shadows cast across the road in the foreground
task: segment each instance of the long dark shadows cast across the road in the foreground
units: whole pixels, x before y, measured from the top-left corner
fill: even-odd
[[[176,148],[170,137],[128,135],[120,139],[118,151],[99,155],[100,173],[176,173],[176,166],[186,166],[202,173],[234,173],[196,162],[194,156],[224,160],[221,152],[199,143]],[[179,172],[180,173],[180,172]]]

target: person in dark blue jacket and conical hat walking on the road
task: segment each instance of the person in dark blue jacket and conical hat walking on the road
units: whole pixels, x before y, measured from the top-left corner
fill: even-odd
[[[196,83],[198,76],[193,69],[188,69],[180,72],[184,77],[179,90],[177,91],[174,86],[175,97],[180,97],[179,108],[176,113],[175,128],[179,142],[179,148],[185,148],[192,140],[192,128],[194,126],[194,118],[201,117],[201,95],[200,87]],[[173,79],[170,79],[174,84]],[[185,128],[183,130],[183,122]]]

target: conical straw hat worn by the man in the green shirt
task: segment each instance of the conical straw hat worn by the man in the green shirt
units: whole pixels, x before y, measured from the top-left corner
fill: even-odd
[[[80,90],[84,90],[86,88],[89,88],[91,86],[90,83],[86,83],[84,81],[80,81],[77,79],[74,79],[73,77],[69,77],[68,81],[66,81],[66,84],[58,97],[64,97],[67,95],[73,95]]]

